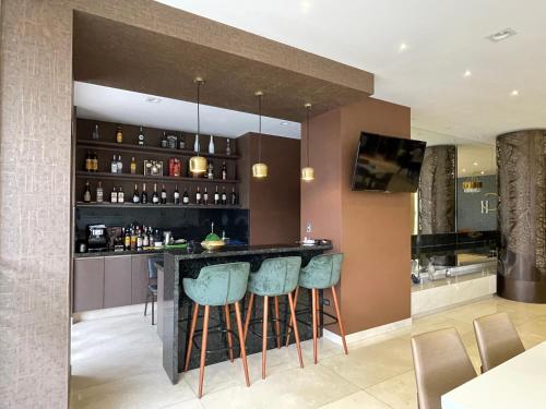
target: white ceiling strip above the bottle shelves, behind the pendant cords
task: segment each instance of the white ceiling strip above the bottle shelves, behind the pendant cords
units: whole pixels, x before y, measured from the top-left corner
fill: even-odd
[[[74,82],[74,105],[79,118],[96,119],[170,131],[197,132],[197,105],[131,91]],[[201,106],[201,133],[237,137],[258,131],[258,116],[206,105]],[[262,132],[277,136],[300,137],[300,124],[262,117]]]

